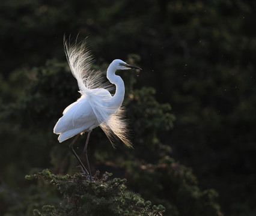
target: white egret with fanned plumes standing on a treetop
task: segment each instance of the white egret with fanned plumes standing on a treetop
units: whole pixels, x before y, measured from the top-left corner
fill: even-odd
[[[115,71],[131,68],[141,70],[141,68],[126,64],[120,59],[112,61],[106,73],[108,80],[115,85],[115,94],[111,95],[109,92],[111,85],[102,84],[100,71],[91,70],[92,58],[86,49],[86,43],[83,42],[79,46],[77,44],[70,45],[64,39],[64,48],[72,74],[78,81],[81,97],[66,107],[63,116],[59,118],[53,128],[53,133],[59,134],[59,142],[76,136],[69,148],[91,179],[87,146],[94,128],[100,126],[109,140],[112,140],[113,136],[119,137],[124,144],[131,146],[127,139],[127,124],[123,119],[123,108],[121,107],[124,100],[124,82],[120,76],[115,74]],[[79,135],[85,132],[88,132],[88,135],[84,154],[89,172],[73,149]]]

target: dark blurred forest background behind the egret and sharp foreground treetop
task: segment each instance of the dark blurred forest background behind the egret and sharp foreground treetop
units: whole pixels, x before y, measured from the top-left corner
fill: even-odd
[[[93,172],[127,178],[166,215],[255,215],[255,4],[1,1],[0,214],[58,203],[24,179],[31,170],[78,172],[71,140],[59,144],[52,128],[79,97],[62,45],[79,33],[96,69],[116,58],[143,68],[118,72],[134,150],[112,149],[97,128]]]

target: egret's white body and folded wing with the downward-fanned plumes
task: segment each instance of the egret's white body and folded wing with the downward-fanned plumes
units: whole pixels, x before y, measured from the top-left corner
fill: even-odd
[[[70,104],[53,128],[53,133],[59,134],[59,142],[100,125],[112,145],[113,138],[118,137],[127,146],[132,146],[127,139],[124,109],[109,106],[112,96],[105,89],[93,89],[88,93]]]

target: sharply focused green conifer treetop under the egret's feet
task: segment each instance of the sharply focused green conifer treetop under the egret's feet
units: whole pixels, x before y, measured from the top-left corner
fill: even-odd
[[[60,206],[44,205],[33,211],[39,215],[155,215],[160,216],[165,208],[151,206],[138,194],[126,190],[126,179],[108,180],[111,173],[101,179],[88,181],[84,174],[53,175],[49,170],[26,176],[26,179],[44,179],[62,194]]]

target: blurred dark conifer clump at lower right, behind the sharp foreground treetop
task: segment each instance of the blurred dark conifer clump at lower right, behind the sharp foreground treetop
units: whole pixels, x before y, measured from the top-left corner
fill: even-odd
[[[166,207],[166,215],[223,215],[215,190],[201,190],[192,171],[166,156],[159,163],[133,164],[128,187]],[[150,190],[147,190],[150,188]]]

